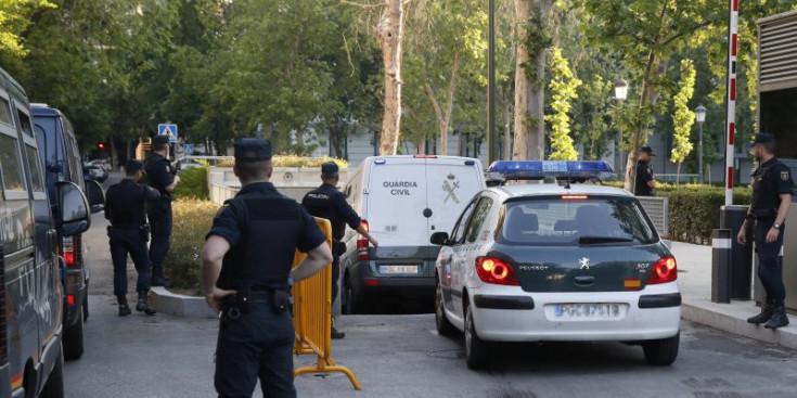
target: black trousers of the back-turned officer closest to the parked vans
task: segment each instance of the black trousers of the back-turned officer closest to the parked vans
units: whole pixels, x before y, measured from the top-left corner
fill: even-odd
[[[137,229],[108,230],[108,245],[111,245],[111,260],[114,264],[114,295],[127,294],[127,255],[136,265],[139,273],[136,283],[137,292],[150,291],[150,256],[146,253],[146,243],[141,239]]]

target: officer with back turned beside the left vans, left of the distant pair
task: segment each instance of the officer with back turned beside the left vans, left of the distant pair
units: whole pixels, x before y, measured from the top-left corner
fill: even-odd
[[[149,227],[146,226],[146,202],[157,200],[160,194],[139,184],[144,178],[143,165],[137,159],[127,161],[125,178],[111,185],[105,195],[105,218],[108,227],[111,259],[114,264],[114,294],[119,304],[119,317],[131,313],[127,304],[127,255],[130,254],[139,273],[136,291],[139,293],[137,311],[155,314],[146,301],[150,292],[150,256],[146,253]]]

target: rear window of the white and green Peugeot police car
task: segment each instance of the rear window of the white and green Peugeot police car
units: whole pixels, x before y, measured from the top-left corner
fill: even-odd
[[[564,195],[504,204],[499,243],[510,245],[629,245],[658,239],[632,197]]]

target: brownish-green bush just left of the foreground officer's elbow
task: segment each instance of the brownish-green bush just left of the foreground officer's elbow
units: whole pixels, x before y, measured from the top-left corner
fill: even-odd
[[[171,248],[164,271],[175,287],[202,295],[202,247],[218,209],[214,202],[196,198],[172,203]]]

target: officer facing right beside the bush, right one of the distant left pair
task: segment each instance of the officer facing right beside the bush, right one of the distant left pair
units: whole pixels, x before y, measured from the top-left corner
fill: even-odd
[[[151,201],[146,209],[152,227],[152,285],[168,287],[171,283],[164,278],[164,259],[171,244],[171,193],[180,183],[180,177],[176,176],[171,163],[166,158],[169,154],[167,136],[153,137],[152,150],[153,154],[144,161],[146,183],[160,193],[160,198]]]

